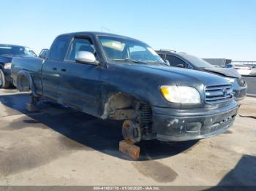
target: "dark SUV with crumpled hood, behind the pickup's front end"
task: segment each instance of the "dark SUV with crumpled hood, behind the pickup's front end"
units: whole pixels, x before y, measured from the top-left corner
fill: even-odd
[[[233,95],[236,101],[242,100],[246,97],[246,82],[241,79],[241,75],[238,74],[236,69],[213,66],[201,58],[197,58],[194,55],[189,55],[184,52],[176,52],[174,50],[158,50],[156,52],[163,60],[169,61],[170,66],[206,71],[208,73],[225,77],[225,79],[232,84]]]

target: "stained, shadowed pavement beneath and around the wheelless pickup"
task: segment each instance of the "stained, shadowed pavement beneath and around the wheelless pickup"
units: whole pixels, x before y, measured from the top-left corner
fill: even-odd
[[[0,90],[0,185],[256,185],[256,98],[230,130],[200,141],[140,143],[118,152],[121,123]]]

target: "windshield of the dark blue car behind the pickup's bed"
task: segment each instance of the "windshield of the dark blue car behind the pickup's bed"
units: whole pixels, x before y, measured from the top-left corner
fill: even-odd
[[[18,47],[18,46],[3,46],[0,45],[0,55],[30,55],[37,56],[33,50],[30,50],[27,47]]]

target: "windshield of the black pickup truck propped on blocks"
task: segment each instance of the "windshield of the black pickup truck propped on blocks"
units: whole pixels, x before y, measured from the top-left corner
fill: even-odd
[[[106,57],[110,61],[132,63],[165,63],[151,47],[143,42],[110,36],[99,36]]]

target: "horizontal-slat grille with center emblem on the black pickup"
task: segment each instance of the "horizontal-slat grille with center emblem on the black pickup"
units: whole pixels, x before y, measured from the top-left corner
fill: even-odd
[[[231,85],[215,85],[206,87],[206,103],[219,104],[233,98]]]

